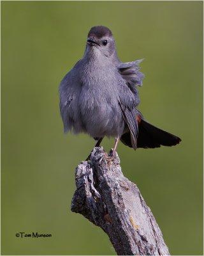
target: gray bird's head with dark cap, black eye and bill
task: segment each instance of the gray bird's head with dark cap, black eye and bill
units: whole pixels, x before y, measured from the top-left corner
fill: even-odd
[[[87,51],[111,57],[115,53],[112,31],[104,26],[92,27],[87,38]]]

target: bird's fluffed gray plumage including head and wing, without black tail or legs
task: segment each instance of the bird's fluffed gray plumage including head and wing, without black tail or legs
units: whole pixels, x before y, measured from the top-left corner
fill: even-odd
[[[85,132],[93,138],[120,137],[126,122],[136,141],[136,85],[142,85],[140,61],[121,63],[108,28],[91,29],[95,44],[87,44],[82,60],[62,79],[59,87],[64,132]],[[103,41],[107,44],[103,45]]]

